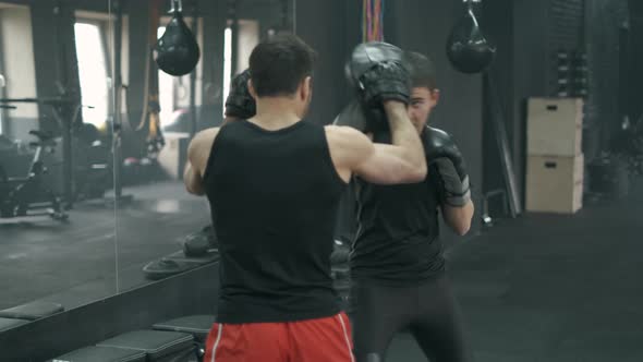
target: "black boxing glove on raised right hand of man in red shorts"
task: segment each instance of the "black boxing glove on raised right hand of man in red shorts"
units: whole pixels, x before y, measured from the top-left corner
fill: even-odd
[[[411,76],[408,68],[399,60],[375,63],[359,77],[360,96],[369,108],[380,108],[386,100],[398,100],[409,105]]]

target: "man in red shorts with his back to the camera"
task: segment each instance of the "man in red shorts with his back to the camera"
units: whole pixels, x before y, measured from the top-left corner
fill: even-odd
[[[205,361],[353,361],[351,326],[330,278],[340,195],[352,174],[387,184],[426,176],[407,113],[410,89],[402,101],[378,98],[393,145],[302,120],[314,59],[292,35],[260,43],[250,70],[232,82],[225,125],[190,144],[184,182],[207,196],[221,256]],[[384,81],[365,86],[404,83],[395,68],[378,68],[388,72]]]

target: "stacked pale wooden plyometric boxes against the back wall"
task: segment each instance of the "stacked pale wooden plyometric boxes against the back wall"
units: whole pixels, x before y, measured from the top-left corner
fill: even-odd
[[[526,210],[574,214],[583,203],[583,100],[530,98]]]

